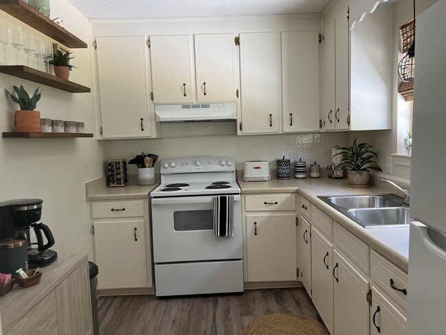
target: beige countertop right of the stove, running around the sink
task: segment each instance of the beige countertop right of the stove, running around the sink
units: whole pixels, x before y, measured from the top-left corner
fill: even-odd
[[[322,211],[325,211],[336,222],[366,242],[371,249],[382,254],[390,262],[406,271],[406,273],[408,272],[409,227],[365,229],[317,197],[343,194],[389,193],[385,189],[379,187],[354,189],[349,187],[347,179],[331,178],[293,178],[287,180],[272,178],[271,181],[245,182],[243,181],[243,174],[240,173],[238,174],[238,183],[242,189],[242,194],[298,192]]]

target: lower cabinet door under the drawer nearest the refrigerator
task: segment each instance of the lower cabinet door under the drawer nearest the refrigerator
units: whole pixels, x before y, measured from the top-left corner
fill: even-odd
[[[407,319],[375,286],[372,286],[371,335],[406,335]]]

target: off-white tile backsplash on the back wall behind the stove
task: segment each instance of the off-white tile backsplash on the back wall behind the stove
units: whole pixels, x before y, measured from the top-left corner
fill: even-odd
[[[169,135],[173,133],[174,130],[170,129]],[[308,167],[317,161],[321,169],[325,169],[331,164],[331,148],[344,144],[345,132],[193,137],[178,130],[175,138],[110,141],[110,159],[122,158],[128,161],[141,152],[158,154],[160,161],[185,156],[228,156],[235,157],[239,170],[243,170],[245,161],[255,160],[270,161],[271,167],[275,169],[276,159],[283,156],[289,158],[290,152],[297,152],[297,158],[307,161]],[[159,163],[155,167],[156,172],[159,172]],[[129,165],[129,172],[137,173],[136,167]]]

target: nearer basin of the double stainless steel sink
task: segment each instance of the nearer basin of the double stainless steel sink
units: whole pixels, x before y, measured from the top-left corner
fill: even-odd
[[[360,220],[362,227],[385,226],[401,227],[410,223],[410,211],[407,207],[358,208],[349,209],[349,214]]]

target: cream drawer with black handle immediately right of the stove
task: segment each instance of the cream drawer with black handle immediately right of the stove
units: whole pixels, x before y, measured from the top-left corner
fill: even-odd
[[[295,194],[256,194],[245,196],[245,211],[295,211]]]

